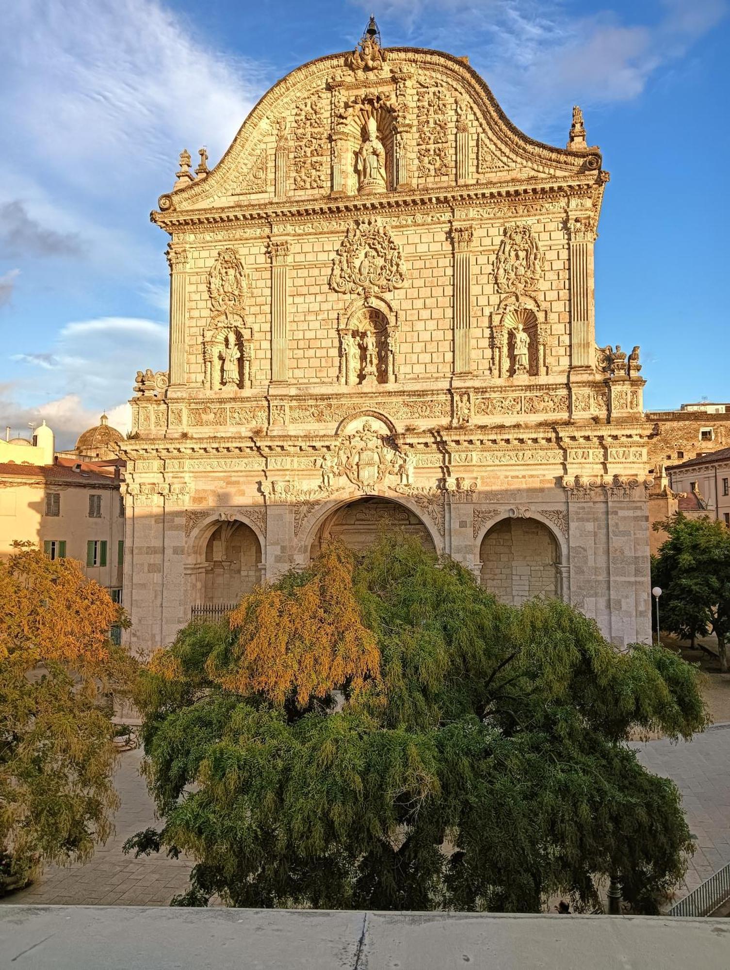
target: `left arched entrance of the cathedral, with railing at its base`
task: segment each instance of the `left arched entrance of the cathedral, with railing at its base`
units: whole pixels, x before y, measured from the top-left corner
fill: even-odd
[[[261,582],[261,544],[243,522],[221,522],[205,547],[205,562],[195,570],[201,605],[237,603]]]

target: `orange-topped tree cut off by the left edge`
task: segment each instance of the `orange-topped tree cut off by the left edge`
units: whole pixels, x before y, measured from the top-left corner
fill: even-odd
[[[17,543],[0,562],[0,883],[85,859],[117,798],[114,726],[100,692],[131,681],[109,640],[119,607],[72,559]]]

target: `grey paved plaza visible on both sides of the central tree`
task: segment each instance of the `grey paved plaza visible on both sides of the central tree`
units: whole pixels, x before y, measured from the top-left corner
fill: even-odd
[[[656,774],[680,787],[697,851],[680,895],[691,891],[730,862],[730,723],[715,725],[688,744],[666,740],[636,743],[639,757]],[[154,809],[139,774],[140,751],[121,757],[116,788],[121,807],[116,834],[86,865],[50,866],[33,886],[7,896],[4,903],[57,905],[166,906],[187,888],[190,859],[164,855],[123,856],[121,846],[134,832],[155,824]]]

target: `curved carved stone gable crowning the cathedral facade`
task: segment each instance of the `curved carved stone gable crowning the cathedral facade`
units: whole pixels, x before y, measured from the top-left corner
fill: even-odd
[[[444,190],[595,175],[596,148],[556,148],[519,131],[480,75],[436,50],[391,48],[381,67],[330,54],[296,68],[255,105],[205,177],[160,198],[198,210],[360,192],[368,124],[382,145],[383,191]]]

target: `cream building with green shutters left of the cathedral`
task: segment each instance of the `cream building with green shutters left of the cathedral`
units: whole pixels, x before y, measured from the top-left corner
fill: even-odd
[[[121,465],[110,451],[96,462],[84,461],[79,453],[84,436],[98,436],[99,429],[116,442],[123,438],[103,415],[98,428],[84,432],[71,452],[55,452],[45,422],[32,440],[0,441],[0,557],[13,552],[14,541],[31,541],[50,559],[78,559],[86,575],[121,602]]]

